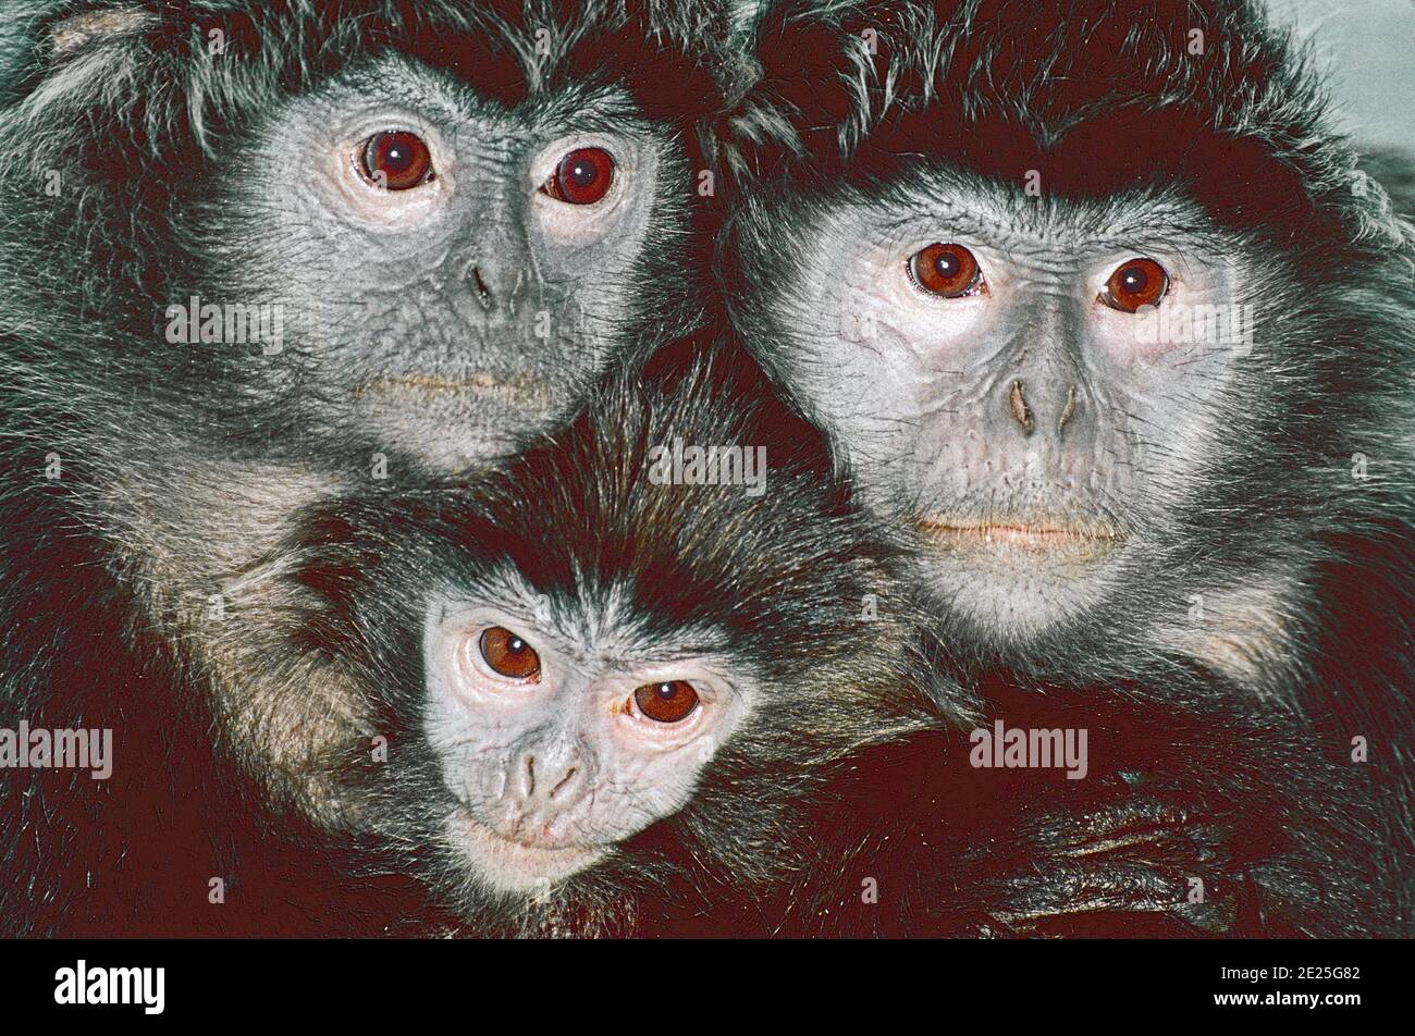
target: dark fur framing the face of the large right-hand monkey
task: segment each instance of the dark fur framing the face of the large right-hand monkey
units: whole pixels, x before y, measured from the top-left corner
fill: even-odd
[[[1203,57],[1186,52],[1191,28],[1204,31]],[[1329,129],[1299,48],[1252,4],[1220,0],[785,3],[758,21],[754,47],[758,78],[724,132],[724,164],[744,200],[723,266],[743,334],[777,371],[791,359],[773,351],[782,335],[756,287],[780,277],[790,253],[777,228],[846,191],[886,190],[918,161],[1007,183],[1041,168],[1039,204],[1049,205],[1179,184],[1271,255],[1262,335],[1275,348],[1245,369],[1247,405],[1225,413],[1225,446],[1170,508],[1167,585],[1128,587],[1022,658],[975,651],[957,630],[942,635],[959,675],[985,688],[1119,682],[1148,699],[1208,698],[1220,712],[1254,699],[1288,709],[1329,773],[1364,788],[1380,819],[1298,852],[1299,866],[1324,872],[1341,894],[1309,890],[1292,914],[1237,931],[1408,934],[1415,249],[1409,225]],[[1370,459],[1367,481],[1350,478],[1357,453]],[[1149,637],[1146,617],[1173,614],[1206,572],[1275,576],[1288,592],[1281,640],[1247,679]],[[1190,674],[1204,688],[1197,699],[1184,691]],[[1364,767],[1348,761],[1357,735],[1371,747]],[[1285,744],[1255,743],[1237,770],[1196,776],[1199,787],[1244,800],[1257,784],[1240,771],[1290,766]],[[1339,818],[1346,794],[1255,812],[1288,835],[1317,831]],[[1337,906],[1368,882],[1361,909]]]

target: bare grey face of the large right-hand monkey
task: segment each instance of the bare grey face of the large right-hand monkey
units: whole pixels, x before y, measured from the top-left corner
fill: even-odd
[[[1251,344],[1230,320],[1255,277],[1197,207],[930,173],[792,231],[756,211],[743,248],[768,293],[758,347],[979,643],[1024,644],[1145,577],[1157,501],[1189,495]]]

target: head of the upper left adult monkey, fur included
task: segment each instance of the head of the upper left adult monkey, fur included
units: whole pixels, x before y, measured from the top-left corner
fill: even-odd
[[[82,320],[146,341],[144,378],[201,358],[238,434],[460,470],[563,419],[628,328],[691,320],[716,4],[62,16],[11,183],[59,178],[41,204]]]

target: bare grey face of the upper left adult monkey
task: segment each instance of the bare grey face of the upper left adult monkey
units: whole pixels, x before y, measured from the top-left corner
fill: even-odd
[[[385,55],[259,129],[218,202],[250,217],[212,245],[224,290],[282,304],[335,432],[456,470],[601,367],[651,235],[682,226],[682,170],[627,93],[508,109]]]

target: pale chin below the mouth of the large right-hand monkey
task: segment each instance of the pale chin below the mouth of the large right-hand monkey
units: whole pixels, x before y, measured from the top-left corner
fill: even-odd
[[[1124,538],[1102,525],[918,522],[938,599],[982,643],[1006,651],[1078,620],[1104,596]]]

